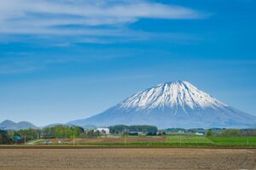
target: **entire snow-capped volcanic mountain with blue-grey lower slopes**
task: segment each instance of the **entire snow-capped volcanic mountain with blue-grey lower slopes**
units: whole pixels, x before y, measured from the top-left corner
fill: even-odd
[[[148,124],[166,127],[256,127],[256,117],[225,105],[195,88],[189,82],[166,82],[84,120],[70,122],[79,126],[93,124]]]

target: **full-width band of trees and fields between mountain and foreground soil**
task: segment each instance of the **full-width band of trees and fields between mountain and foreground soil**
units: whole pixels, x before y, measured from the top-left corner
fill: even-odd
[[[70,141],[65,141],[67,139],[75,141],[73,140],[75,138],[79,139],[79,144],[106,146],[256,146],[256,129],[212,128],[206,130],[201,128],[170,128],[158,130],[157,127],[148,125],[117,125],[109,127],[109,130],[111,135],[119,135],[119,137],[108,137],[107,134],[102,134],[95,129],[84,130],[82,127],[67,125],[18,131],[0,130],[0,144],[24,144],[34,139],[55,139],[55,141],[66,139],[63,140],[64,143],[71,144]],[[206,135],[196,136],[195,133],[204,133]],[[145,139],[142,139],[142,137]],[[93,139],[89,140],[90,138]],[[44,144],[42,140],[38,141]]]

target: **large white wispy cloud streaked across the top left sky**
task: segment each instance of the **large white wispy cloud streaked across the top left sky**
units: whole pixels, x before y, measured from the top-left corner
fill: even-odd
[[[0,34],[122,37],[137,20],[202,17],[192,8],[146,0],[8,0],[0,2]]]

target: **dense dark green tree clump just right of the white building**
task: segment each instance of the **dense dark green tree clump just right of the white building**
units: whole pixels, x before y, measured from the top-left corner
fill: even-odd
[[[146,133],[148,135],[155,135],[158,132],[158,128],[149,125],[115,125],[109,127],[109,131],[112,134]]]

